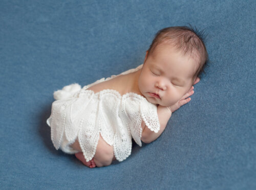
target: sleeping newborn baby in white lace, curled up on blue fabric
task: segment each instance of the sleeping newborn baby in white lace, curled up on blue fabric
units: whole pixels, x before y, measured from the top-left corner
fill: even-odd
[[[87,167],[103,167],[131,154],[132,138],[151,143],[172,112],[188,103],[208,60],[200,34],[188,27],[160,30],[142,65],[84,86],[54,92],[47,124],[56,149]]]

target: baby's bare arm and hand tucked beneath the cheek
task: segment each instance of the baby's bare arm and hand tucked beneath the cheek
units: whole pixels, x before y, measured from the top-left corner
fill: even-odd
[[[145,125],[145,123],[142,121],[141,127],[142,127],[142,134],[141,134],[141,140],[144,143],[151,143],[152,141],[156,140],[164,131],[167,122],[169,121],[170,116],[172,115],[172,112],[176,111],[179,109],[181,106],[184,104],[188,103],[191,98],[190,97],[194,93],[194,86],[192,86],[189,91],[173,106],[170,107],[165,107],[159,105],[157,107],[157,114],[158,114],[158,119],[160,123],[160,130],[155,133],[154,131],[151,131],[148,129],[148,127]]]

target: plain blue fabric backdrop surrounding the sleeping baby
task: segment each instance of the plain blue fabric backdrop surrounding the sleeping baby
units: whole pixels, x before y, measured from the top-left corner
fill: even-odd
[[[256,1],[0,2],[2,189],[255,189]],[[56,151],[53,91],[143,63],[155,33],[190,23],[210,63],[163,134],[109,167]]]

